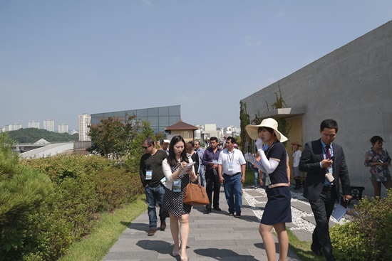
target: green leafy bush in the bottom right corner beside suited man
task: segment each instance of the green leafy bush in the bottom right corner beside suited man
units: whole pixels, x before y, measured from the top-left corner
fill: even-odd
[[[380,200],[363,198],[354,220],[331,228],[337,260],[392,260],[392,189]]]

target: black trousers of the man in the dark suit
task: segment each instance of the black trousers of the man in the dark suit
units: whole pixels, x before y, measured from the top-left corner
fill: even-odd
[[[319,198],[315,201],[309,201],[311,210],[316,220],[316,228],[312,234],[312,246],[319,249],[322,248],[326,260],[335,260],[332,255],[331,238],[329,237],[329,218],[334,211],[336,201],[336,188],[323,188]]]

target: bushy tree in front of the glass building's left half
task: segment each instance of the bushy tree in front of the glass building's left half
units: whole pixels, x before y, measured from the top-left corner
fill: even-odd
[[[93,145],[88,151],[96,151],[101,156],[120,161],[128,152],[131,142],[140,129],[140,120],[135,115],[119,119],[108,117],[90,126],[88,135]]]

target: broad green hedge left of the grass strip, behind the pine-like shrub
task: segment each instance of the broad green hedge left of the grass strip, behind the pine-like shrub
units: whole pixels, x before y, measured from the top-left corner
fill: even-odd
[[[19,205],[29,206],[24,207],[28,212],[23,222],[12,223],[8,230],[1,228],[0,260],[58,260],[73,242],[90,233],[100,216],[99,211],[113,211],[143,193],[138,174],[118,169],[113,161],[100,156],[68,155],[12,161],[11,156],[0,154],[0,164],[1,157],[6,160],[0,171],[7,169],[9,173],[11,169],[18,169],[24,175],[1,174],[0,187],[1,181],[6,179],[7,186],[11,186],[10,177],[30,177],[26,187],[37,191],[45,185],[51,190],[41,198],[31,195],[21,198]],[[11,195],[14,197],[14,193],[8,197],[0,194],[0,204],[3,199],[11,201]],[[39,204],[34,205],[38,199]],[[0,210],[4,206],[1,204]],[[0,212],[0,222],[2,217]]]

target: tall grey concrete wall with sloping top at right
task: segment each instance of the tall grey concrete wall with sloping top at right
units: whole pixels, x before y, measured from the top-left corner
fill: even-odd
[[[299,142],[319,139],[321,121],[335,119],[335,142],[344,148],[351,184],[365,186],[363,193],[373,196],[368,168],[363,166],[369,139],[383,137],[383,147],[392,152],[392,21],[278,82],[287,107],[305,108]],[[266,102],[276,101],[278,82],[242,100],[252,119],[268,111]]]

